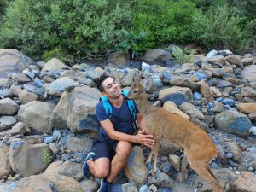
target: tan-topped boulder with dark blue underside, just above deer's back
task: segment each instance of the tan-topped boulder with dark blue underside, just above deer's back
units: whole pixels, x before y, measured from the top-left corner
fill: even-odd
[[[164,102],[172,101],[179,106],[183,102],[193,102],[193,94],[189,88],[173,86],[160,90],[159,99]]]

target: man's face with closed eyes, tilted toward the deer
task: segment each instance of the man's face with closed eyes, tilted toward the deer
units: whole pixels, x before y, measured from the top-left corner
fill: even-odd
[[[119,84],[113,78],[105,79],[102,82],[102,87],[104,88],[104,92],[102,92],[102,94],[109,98],[116,98],[122,94]]]

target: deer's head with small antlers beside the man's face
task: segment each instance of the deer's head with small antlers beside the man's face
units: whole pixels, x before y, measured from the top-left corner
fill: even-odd
[[[140,99],[145,93],[145,88],[141,83],[142,73],[134,73],[133,84],[131,84],[131,89],[129,91],[129,98],[137,100]]]

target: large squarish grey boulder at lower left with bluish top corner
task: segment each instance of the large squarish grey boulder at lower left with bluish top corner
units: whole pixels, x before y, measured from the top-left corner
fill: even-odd
[[[9,161],[13,171],[23,177],[44,171],[48,166],[44,162],[44,150],[48,149],[44,143],[30,144],[26,140],[13,139],[9,147]]]

